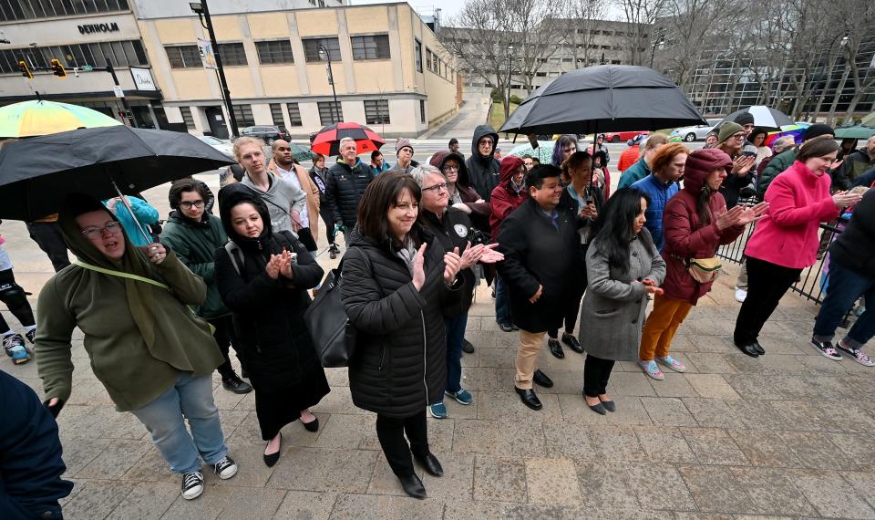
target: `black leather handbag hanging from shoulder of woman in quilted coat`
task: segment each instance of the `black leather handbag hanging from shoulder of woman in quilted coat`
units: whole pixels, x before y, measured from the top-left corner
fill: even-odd
[[[365,265],[370,271],[370,261],[365,255]],[[310,337],[322,366],[326,369],[348,367],[355,355],[355,326],[346,317],[344,303],[340,297],[343,285],[344,261],[328,272],[319,287],[319,292],[310,307],[304,312],[304,321],[310,329]]]

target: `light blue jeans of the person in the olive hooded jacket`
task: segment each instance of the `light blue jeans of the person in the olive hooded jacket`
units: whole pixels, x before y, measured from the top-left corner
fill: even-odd
[[[212,400],[211,376],[192,378],[190,372],[180,372],[167,391],[130,412],[149,430],[173,473],[201,471],[201,458],[214,464],[228,454],[219,409]],[[185,429],[185,418],[191,435]]]

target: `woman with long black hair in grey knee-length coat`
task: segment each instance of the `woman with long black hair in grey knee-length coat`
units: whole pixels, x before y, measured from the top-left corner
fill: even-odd
[[[589,279],[581,309],[583,398],[602,415],[615,411],[607,395],[616,361],[638,357],[649,295],[660,292],[665,263],[644,227],[647,195],[626,188],[615,192],[595,221],[586,253]],[[584,331],[585,324],[585,331]]]

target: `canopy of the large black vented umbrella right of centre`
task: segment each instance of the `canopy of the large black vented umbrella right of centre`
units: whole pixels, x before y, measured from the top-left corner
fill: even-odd
[[[652,68],[601,65],[538,88],[499,131],[595,133],[706,124],[684,92]]]

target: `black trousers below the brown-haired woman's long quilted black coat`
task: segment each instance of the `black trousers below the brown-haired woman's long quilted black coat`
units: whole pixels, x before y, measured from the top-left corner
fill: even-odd
[[[407,439],[404,438],[407,433]],[[404,419],[386,417],[376,414],[376,437],[383,447],[386,462],[397,476],[413,474],[413,452],[418,458],[428,454],[428,428],[426,411],[423,409],[416,415]],[[410,441],[409,446],[407,441]]]

